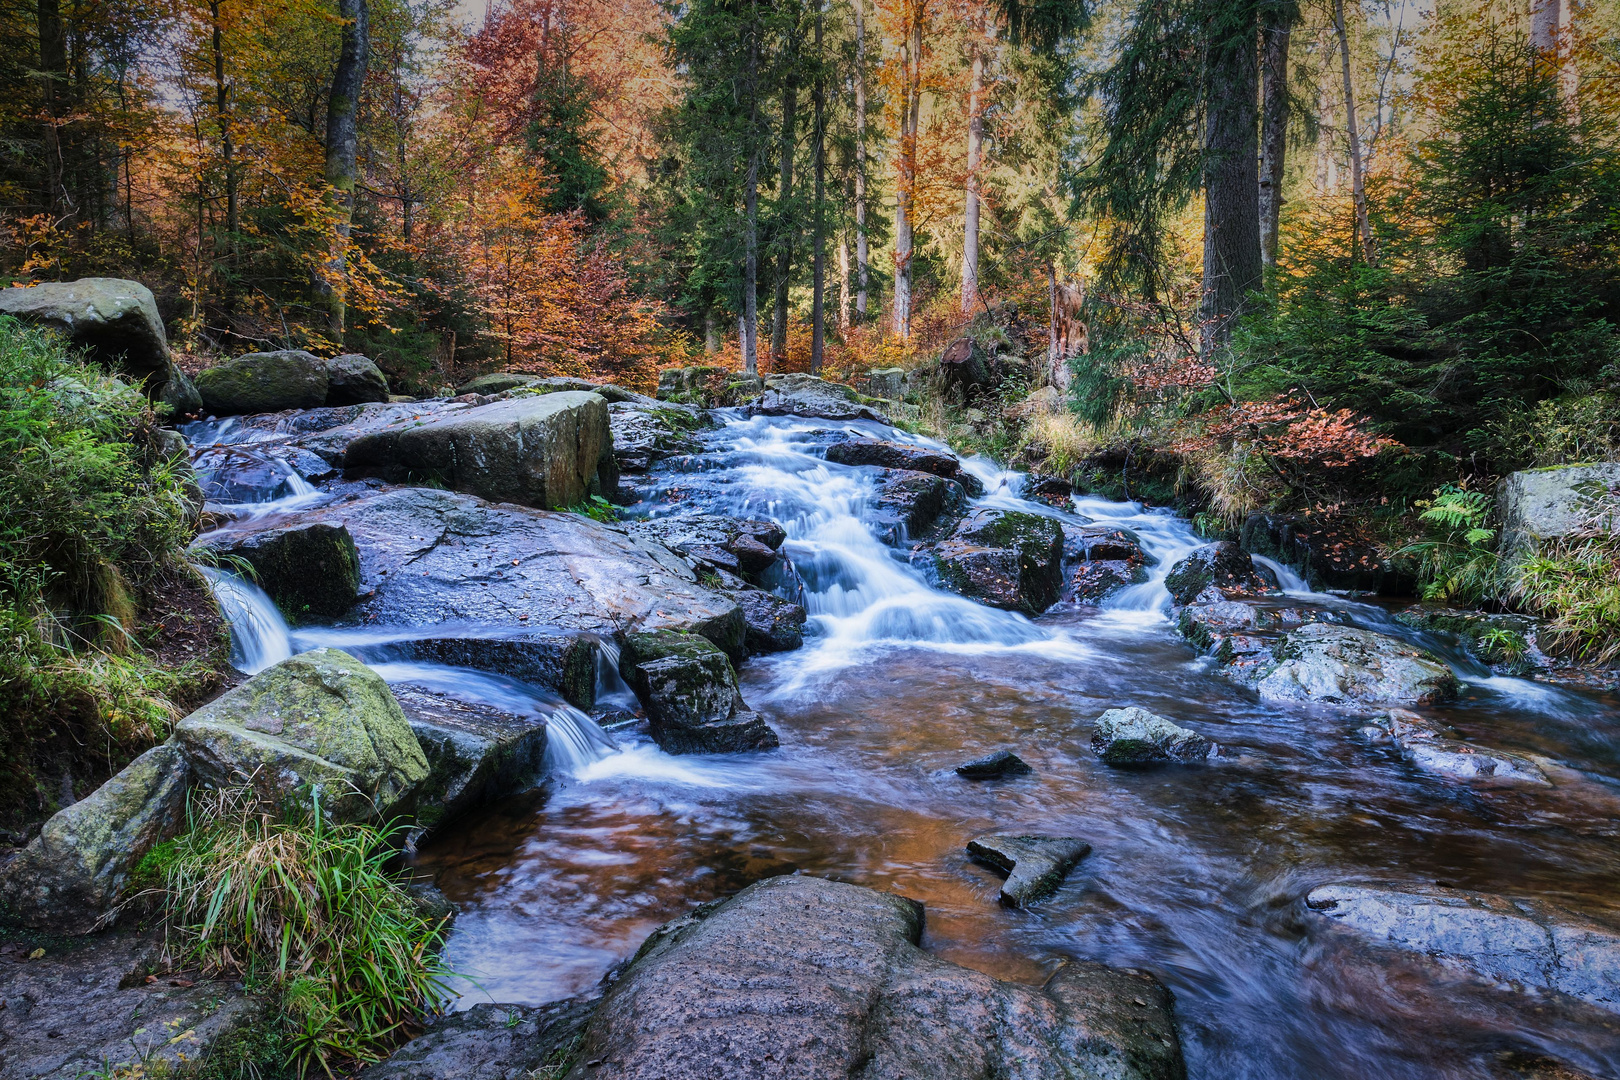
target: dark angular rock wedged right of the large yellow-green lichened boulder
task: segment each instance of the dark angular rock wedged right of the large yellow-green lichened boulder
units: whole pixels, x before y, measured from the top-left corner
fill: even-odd
[[[428,776],[413,797],[416,824],[437,827],[539,782],[546,766],[544,719],[418,687],[399,687],[395,696],[428,759]]]

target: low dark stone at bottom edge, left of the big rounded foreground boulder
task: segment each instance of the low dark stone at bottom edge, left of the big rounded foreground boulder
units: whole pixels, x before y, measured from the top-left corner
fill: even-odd
[[[428,1030],[360,1075],[361,1080],[549,1080],[578,1056],[598,997],[546,1006],[478,1004],[428,1022]]]

